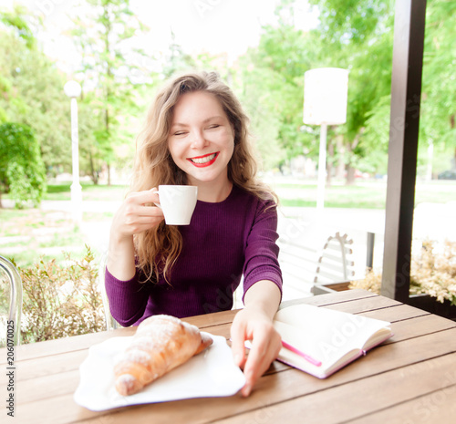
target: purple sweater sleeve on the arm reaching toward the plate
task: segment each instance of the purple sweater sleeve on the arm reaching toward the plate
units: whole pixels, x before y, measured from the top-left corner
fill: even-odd
[[[277,239],[277,209],[271,202],[259,202],[245,247],[244,295],[261,280],[272,281],[282,294]]]

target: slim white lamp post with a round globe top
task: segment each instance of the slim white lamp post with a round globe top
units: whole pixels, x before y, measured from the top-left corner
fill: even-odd
[[[68,81],[64,86],[65,94],[71,98],[71,156],[73,160],[73,183],[71,184],[71,207],[73,222],[82,222],[82,187],[79,183],[79,140],[78,140],[78,102],[81,86],[77,81]]]

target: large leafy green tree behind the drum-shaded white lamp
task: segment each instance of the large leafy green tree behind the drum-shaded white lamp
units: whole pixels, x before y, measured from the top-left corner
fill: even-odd
[[[327,163],[330,171],[333,164],[343,162],[351,183],[355,168],[368,166],[363,140],[368,114],[389,94],[392,11],[386,1],[314,0],[320,24],[303,31],[295,26],[297,3],[282,0],[278,5],[277,25],[263,28],[259,47],[249,52],[250,63],[244,68],[250,69],[245,73],[255,69],[256,78],[249,84],[272,93],[279,120],[277,137],[287,157],[306,152],[316,159],[319,128],[303,126],[304,74],[316,67],[349,69],[347,123],[328,128]],[[264,70],[264,78],[258,78],[257,69]]]

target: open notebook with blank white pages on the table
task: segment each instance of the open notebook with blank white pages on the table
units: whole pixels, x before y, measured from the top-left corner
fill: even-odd
[[[390,323],[312,305],[293,305],[277,312],[275,329],[285,346],[278,360],[326,378],[392,336]]]

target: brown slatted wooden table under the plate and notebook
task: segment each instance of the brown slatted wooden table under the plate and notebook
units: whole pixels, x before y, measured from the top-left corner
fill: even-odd
[[[89,346],[112,336],[130,336],[133,328],[19,346],[14,422],[456,422],[456,323],[362,290],[288,302],[295,303],[387,320],[395,336],[324,380],[275,362],[249,398],[186,399],[104,412],[92,412],[74,402],[78,367]],[[228,337],[234,313],[194,316],[188,321],[204,331]],[[0,350],[0,358],[4,381],[5,349]],[[5,387],[3,383],[1,387]],[[5,415],[7,410],[2,409]],[[2,422],[9,421],[2,416]]]

